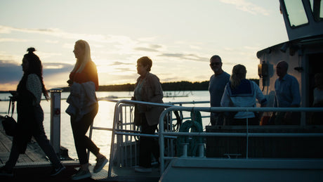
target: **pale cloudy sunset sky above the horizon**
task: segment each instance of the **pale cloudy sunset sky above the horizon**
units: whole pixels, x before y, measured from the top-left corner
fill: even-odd
[[[242,64],[258,79],[257,51],[288,41],[278,0],[1,0],[0,91],[16,89],[29,47],[46,89],[67,86],[79,39],[91,47],[100,85],[135,83],[142,56],[160,82],[209,80],[213,55],[225,72]]]

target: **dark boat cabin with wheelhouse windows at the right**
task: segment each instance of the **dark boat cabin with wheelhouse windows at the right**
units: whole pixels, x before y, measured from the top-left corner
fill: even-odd
[[[321,0],[280,0],[280,11],[289,41],[258,51],[259,86],[272,107],[278,78],[275,67],[284,60],[289,64],[287,73],[298,80],[301,107],[311,107],[314,75],[323,72],[323,4]],[[302,115],[301,125],[306,117]]]

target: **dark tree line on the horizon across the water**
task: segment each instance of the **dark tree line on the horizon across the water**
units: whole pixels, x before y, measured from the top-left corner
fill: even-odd
[[[259,79],[249,79],[259,85]],[[204,82],[165,82],[161,83],[163,91],[207,91],[209,81]],[[61,88],[62,91],[70,91],[70,87]],[[98,91],[133,91],[135,84],[117,84],[99,86]]]

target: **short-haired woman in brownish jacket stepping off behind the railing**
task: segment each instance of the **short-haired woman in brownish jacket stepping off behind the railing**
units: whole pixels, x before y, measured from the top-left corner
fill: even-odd
[[[163,103],[163,90],[159,78],[150,73],[152,60],[147,56],[137,60],[137,72],[140,77],[135,85],[133,100],[151,103]],[[159,123],[159,116],[164,108],[151,105],[137,105],[135,121],[141,124],[142,134],[154,134]],[[135,168],[138,172],[150,172],[151,154],[159,160],[159,143],[155,138],[140,136],[139,146],[139,167]]]

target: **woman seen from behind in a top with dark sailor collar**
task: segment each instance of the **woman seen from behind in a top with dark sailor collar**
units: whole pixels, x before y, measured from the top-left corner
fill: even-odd
[[[222,107],[256,107],[256,99],[265,107],[267,99],[263,96],[259,86],[246,79],[246,67],[244,65],[235,65],[232,69],[230,82],[225,86],[220,105]],[[258,125],[258,117],[254,112],[237,112],[233,116],[230,125],[246,125],[248,118],[249,125]],[[228,123],[227,123],[228,124]]]

